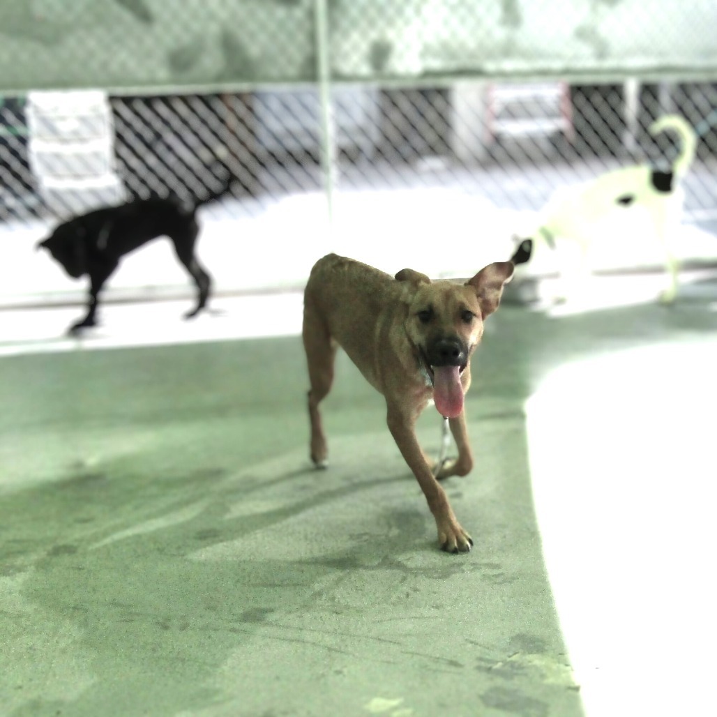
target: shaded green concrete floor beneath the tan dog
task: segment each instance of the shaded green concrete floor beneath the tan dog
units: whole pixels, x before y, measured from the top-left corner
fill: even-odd
[[[447,482],[475,539],[461,556],[437,549],[345,356],[326,471],[298,337],[0,359],[0,713],[583,715],[524,404],[566,361],[703,336],[717,314],[505,305],[490,322],[467,399],[477,465]],[[439,429],[428,409],[429,450]]]

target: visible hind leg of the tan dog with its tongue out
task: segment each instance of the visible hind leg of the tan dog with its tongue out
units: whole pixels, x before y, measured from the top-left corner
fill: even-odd
[[[318,404],[331,391],[333,365],[338,345],[328,333],[326,324],[312,308],[309,298],[304,302],[302,336],[310,383],[308,409],[311,424],[311,460],[316,467],[323,468],[327,465],[328,447]]]

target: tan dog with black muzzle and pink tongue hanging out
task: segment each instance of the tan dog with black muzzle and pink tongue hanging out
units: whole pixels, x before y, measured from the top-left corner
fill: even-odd
[[[311,458],[326,465],[326,437],[318,405],[331,389],[337,346],[386,399],[388,424],[436,519],[443,550],[466,552],[473,540],[460,526],[437,479],[466,475],[473,455],[463,397],[470,357],[483,336],[483,320],[498,308],[512,262],[490,264],[465,284],[431,280],[412,269],[395,279],[335,254],[311,270],[304,294],[303,341],[311,389]],[[419,414],[433,399],[450,419],[458,457],[437,467],[415,433]]]

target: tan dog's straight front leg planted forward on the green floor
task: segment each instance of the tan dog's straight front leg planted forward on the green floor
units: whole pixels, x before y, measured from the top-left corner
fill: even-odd
[[[436,520],[438,544],[441,549],[449,553],[470,551],[473,539],[456,520],[445,490],[431,472],[416,438],[415,417],[407,414],[401,407],[389,404],[387,422],[401,455],[426,496],[428,507]]]

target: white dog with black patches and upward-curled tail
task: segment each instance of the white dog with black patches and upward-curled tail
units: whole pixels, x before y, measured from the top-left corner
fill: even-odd
[[[616,222],[625,223],[625,212],[642,212],[647,219],[640,227],[654,234],[665,255],[668,285],[660,295],[671,303],[677,295],[679,265],[670,250],[670,235],[680,220],[684,192],[680,180],[695,158],[697,136],[688,122],[678,115],[665,115],[650,125],[655,136],[673,130],[680,138],[680,153],[669,171],[650,166],[628,166],[598,176],[593,181],[556,191],[543,209],[538,227],[528,237],[518,238],[518,249],[511,260],[527,262],[534,242],[541,237],[551,248],[559,248],[562,294],[566,300],[579,292],[587,276],[587,250],[605,232],[614,232]],[[572,251],[569,249],[567,242]]]

